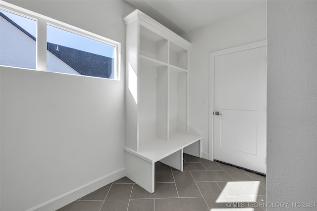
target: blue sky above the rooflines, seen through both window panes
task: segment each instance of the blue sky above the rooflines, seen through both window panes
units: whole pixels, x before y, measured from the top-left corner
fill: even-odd
[[[0,11],[36,38],[36,21],[3,10]],[[106,56],[109,58],[114,57],[114,46],[50,25],[47,26],[47,42]]]

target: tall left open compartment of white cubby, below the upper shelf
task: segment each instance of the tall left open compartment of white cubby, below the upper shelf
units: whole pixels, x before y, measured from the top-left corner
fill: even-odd
[[[139,142],[167,134],[167,66],[140,60],[139,81]]]

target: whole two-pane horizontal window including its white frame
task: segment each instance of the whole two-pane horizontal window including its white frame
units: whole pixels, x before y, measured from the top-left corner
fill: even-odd
[[[7,2],[0,12],[0,65],[119,80],[119,42]]]

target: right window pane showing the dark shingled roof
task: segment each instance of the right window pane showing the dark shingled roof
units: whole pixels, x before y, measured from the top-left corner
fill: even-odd
[[[47,26],[47,70],[113,79],[115,46]]]

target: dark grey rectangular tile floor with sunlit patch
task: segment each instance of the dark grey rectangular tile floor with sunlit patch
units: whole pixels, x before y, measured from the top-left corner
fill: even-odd
[[[184,171],[155,164],[155,192],[127,177],[58,211],[264,211],[265,177],[184,154]]]

